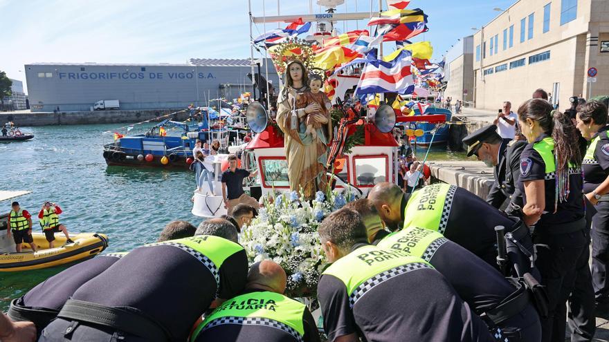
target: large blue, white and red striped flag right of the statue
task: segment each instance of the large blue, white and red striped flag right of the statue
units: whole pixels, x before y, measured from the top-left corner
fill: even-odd
[[[415,90],[410,73],[412,59],[410,51],[402,50],[392,61],[375,59],[363,69],[356,95],[374,93],[398,93],[406,95]]]

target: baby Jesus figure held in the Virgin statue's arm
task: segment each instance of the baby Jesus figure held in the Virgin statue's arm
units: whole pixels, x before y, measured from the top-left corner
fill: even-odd
[[[310,113],[305,118],[305,125],[307,126],[305,134],[311,135],[313,140],[317,138],[317,129],[327,124],[329,120],[329,108],[331,108],[330,100],[321,91],[322,85],[323,82],[319,75],[310,75],[310,91],[305,93],[292,92],[292,96],[296,99],[296,108],[305,108],[311,103],[319,104],[321,107],[321,111]]]

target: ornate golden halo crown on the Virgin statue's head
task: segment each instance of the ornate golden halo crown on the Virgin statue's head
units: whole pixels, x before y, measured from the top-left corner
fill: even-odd
[[[277,73],[285,73],[286,67],[291,61],[302,61],[307,70],[313,68],[315,53],[311,44],[302,39],[293,38],[285,43],[277,44],[269,48],[269,53]]]

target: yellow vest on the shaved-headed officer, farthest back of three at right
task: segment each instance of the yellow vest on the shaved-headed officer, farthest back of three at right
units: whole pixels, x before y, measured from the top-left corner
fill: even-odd
[[[457,187],[433,184],[412,193],[404,209],[404,228],[416,226],[444,234]]]

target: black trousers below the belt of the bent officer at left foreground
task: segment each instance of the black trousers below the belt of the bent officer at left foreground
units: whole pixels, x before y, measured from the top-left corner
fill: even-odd
[[[87,341],[87,342],[144,342],[138,336],[118,332],[110,327],[101,325],[90,325],[55,319],[47,325],[38,339],[38,342],[64,342],[64,341]]]

